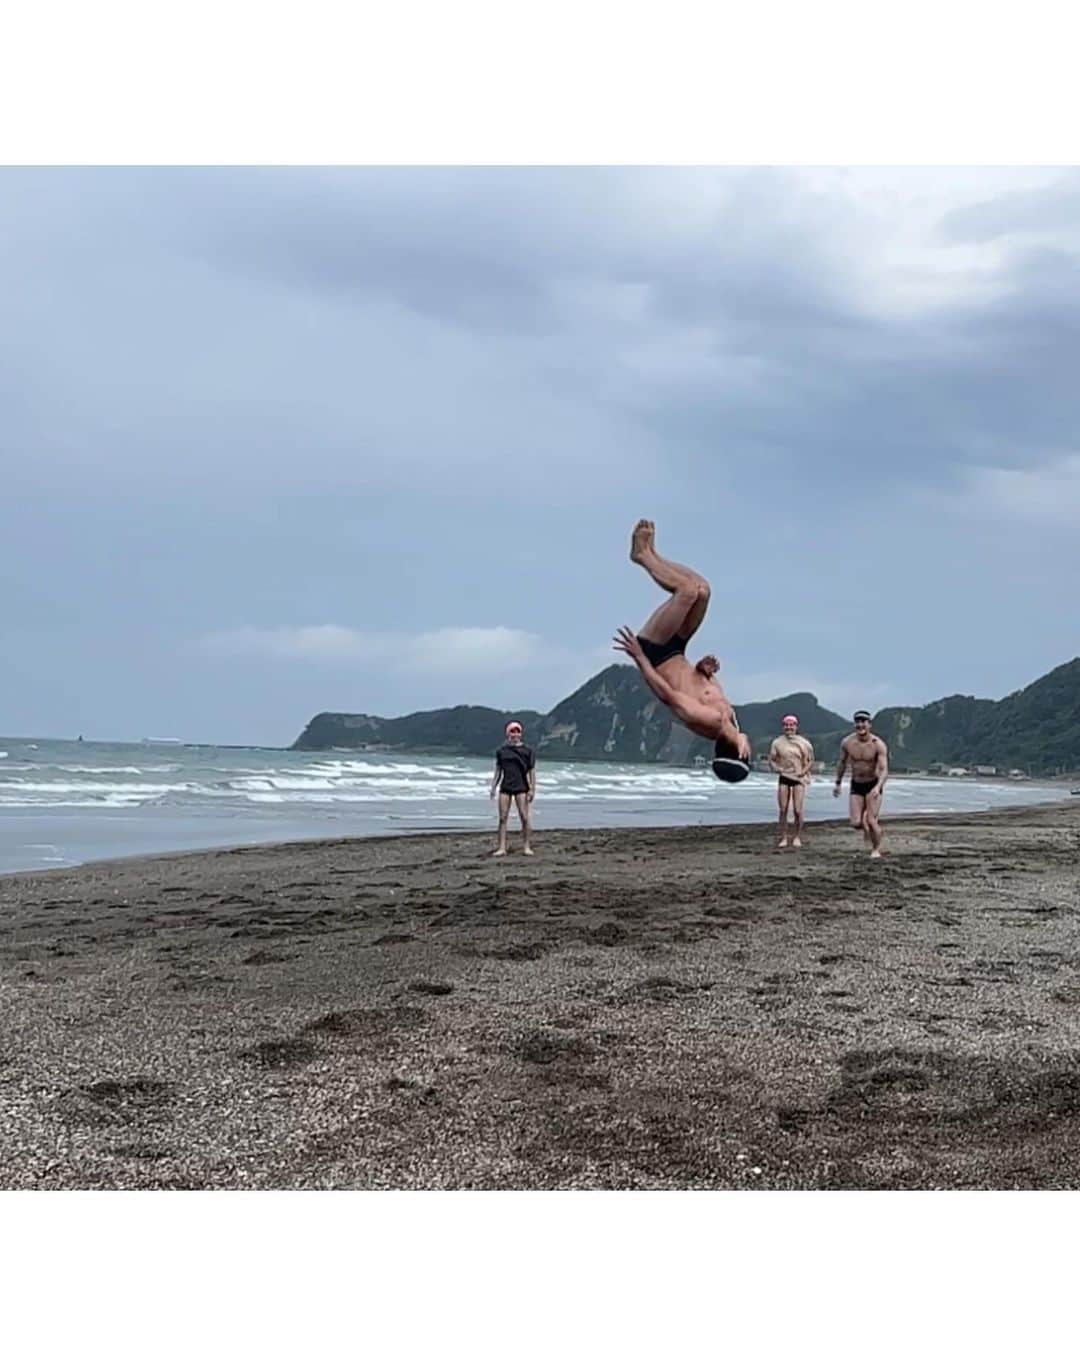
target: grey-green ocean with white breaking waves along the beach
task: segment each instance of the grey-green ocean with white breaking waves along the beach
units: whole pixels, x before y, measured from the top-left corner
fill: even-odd
[[[180,744],[0,740],[0,872],[284,840],[493,830],[493,764],[455,755],[301,753]],[[887,814],[1050,802],[1068,787],[894,778]],[[537,765],[537,830],[770,821],[776,780],[706,768]],[[846,815],[832,774],[807,819]],[[516,817],[512,813],[512,822]]]

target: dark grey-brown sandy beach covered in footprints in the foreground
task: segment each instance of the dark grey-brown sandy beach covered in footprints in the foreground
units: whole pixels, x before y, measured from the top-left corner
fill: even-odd
[[[1080,803],[887,829],[0,878],[0,1185],[1075,1188]]]

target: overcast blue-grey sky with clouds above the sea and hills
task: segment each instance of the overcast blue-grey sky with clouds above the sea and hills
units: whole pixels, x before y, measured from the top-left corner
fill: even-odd
[[[0,170],[0,736],[734,702],[1080,652],[1080,171]],[[691,648],[693,653],[694,648]]]

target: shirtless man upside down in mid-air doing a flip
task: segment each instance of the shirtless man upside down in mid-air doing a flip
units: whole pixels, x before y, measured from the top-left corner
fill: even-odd
[[[686,644],[709,608],[709,582],[656,552],[656,526],[651,520],[640,520],[634,526],[630,562],[644,567],[671,598],[649,617],[640,633],[620,628],[616,649],[626,652],[652,693],[680,722],[714,742],[717,778],[740,783],[751,771],[751,742],[738,730],[734,709],[716,678],[720,662],[710,655],[691,666],[686,659]]]

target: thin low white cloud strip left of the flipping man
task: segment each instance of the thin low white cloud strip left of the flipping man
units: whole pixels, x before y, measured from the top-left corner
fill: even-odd
[[[544,659],[547,644],[517,628],[435,628],[424,633],[366,633],[339,624],[236,628],[209,633],[200,647],[224,656],[262,656],[348,670],[437,668],[443,674],[501,674]]]

